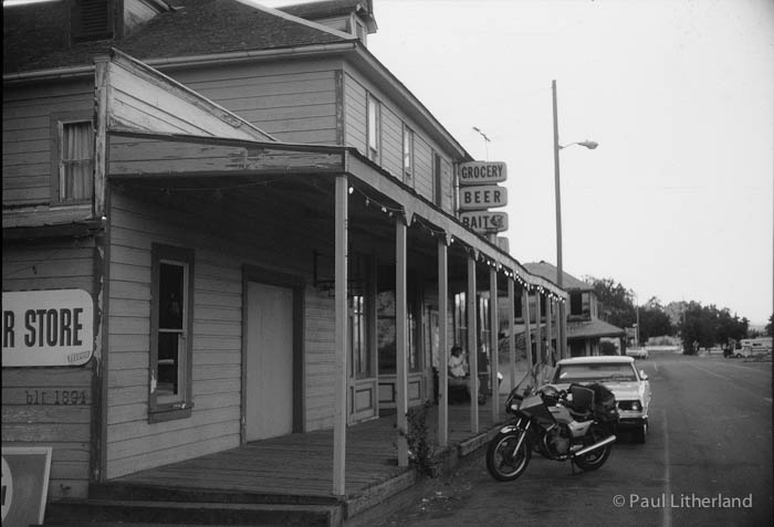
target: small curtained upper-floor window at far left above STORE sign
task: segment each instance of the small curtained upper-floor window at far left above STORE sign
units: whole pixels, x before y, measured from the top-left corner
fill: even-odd
[[[87,201],[93,196],[94,137],[91,120],[60,123],[59,201]]]

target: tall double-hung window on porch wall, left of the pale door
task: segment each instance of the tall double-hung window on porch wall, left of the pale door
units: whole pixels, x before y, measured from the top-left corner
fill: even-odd
[[[149,421],[191,413],[194,251],[153,245]]]

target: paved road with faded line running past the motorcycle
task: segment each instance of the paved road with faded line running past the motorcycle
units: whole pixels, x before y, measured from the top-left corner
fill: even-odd
[[[771,362],[668,355],[638,366],[653,390],[646,444],[624,436],[603,468],[575,475],[533,456],[513,483],[494,482],[479,454],[368,525],[772,525]]]

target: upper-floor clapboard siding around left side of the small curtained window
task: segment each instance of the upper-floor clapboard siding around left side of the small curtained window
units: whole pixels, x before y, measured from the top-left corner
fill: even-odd
[[[61,89],[60,89],[61,87]],[[51,202],[51,167],[54,137],[52,122],[62,114],[94,113],[93,81],[6,87],[2,113],[2,203],[9,205]],[[39,212],[43,223],[45,211]]]

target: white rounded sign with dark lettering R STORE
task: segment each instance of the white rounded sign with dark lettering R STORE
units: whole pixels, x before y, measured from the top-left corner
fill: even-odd
[[[83,289],[2,294],[2,366],[79,366],[94,351],[94,302]]]

